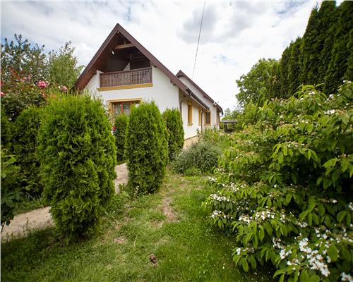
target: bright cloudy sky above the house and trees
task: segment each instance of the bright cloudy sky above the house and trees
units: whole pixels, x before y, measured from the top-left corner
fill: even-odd
[[[71,41],[87,65],[116,23],[164,66],[192,77],[204,1],[1,1],[1,42],[21,34],[45,50]],[[206,1],[193,80],[222,108],[261,58],[280,59],[317,1]]]

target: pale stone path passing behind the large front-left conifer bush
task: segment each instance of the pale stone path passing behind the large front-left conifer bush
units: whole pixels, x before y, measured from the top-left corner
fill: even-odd
[[[128,183],[128,168],[126,164],[120,164],[115,167],[117,178],[114,180],[115,192],[119,193],[120,185],[127,185]],[[1,233],[1,240],[11,238],[11,235],[26,235],[29,230],[42,229],[47,226],[52,226],[52,216],[49,214],[49,207],[35,209],[25,214],[17,214],[10,225],[4,226]]]

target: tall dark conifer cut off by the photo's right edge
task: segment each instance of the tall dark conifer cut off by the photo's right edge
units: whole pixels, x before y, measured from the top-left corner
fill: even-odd
[[[348,68],[348,60],[352,56],[352,49],[348,48],[352,46],[349,45],[349,42],[353,30],[353,2],[342,2],[337,8],[337,13],[340,16],[337,20],[331,61],[325,76],[325,93],[335,92],[338,86],[342,84],[342,80],[345,79],[346,73],[349,75],[350,71],[347,71],[347,69],[352,70],[352,66]]]

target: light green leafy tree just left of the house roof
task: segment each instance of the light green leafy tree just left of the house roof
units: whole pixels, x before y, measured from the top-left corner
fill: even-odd
[[[77,66],[78,59],[73,56],[75,48],[71,47],[71,41],[60,47],[59,51],[49,53],[49,80],[52,83],[71,89],[80,75],[83,66]]]

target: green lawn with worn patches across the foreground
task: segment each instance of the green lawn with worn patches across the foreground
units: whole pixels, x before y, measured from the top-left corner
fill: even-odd
[[[204,186],[200,176],[168,172],[154,195],[119,195],[95,238],[64,245],[48,228],[1,243],[1,280],[272,281],[265,269],[256,275],[234,266],[234,239],[205,223],[200,206],[211,191]]]

